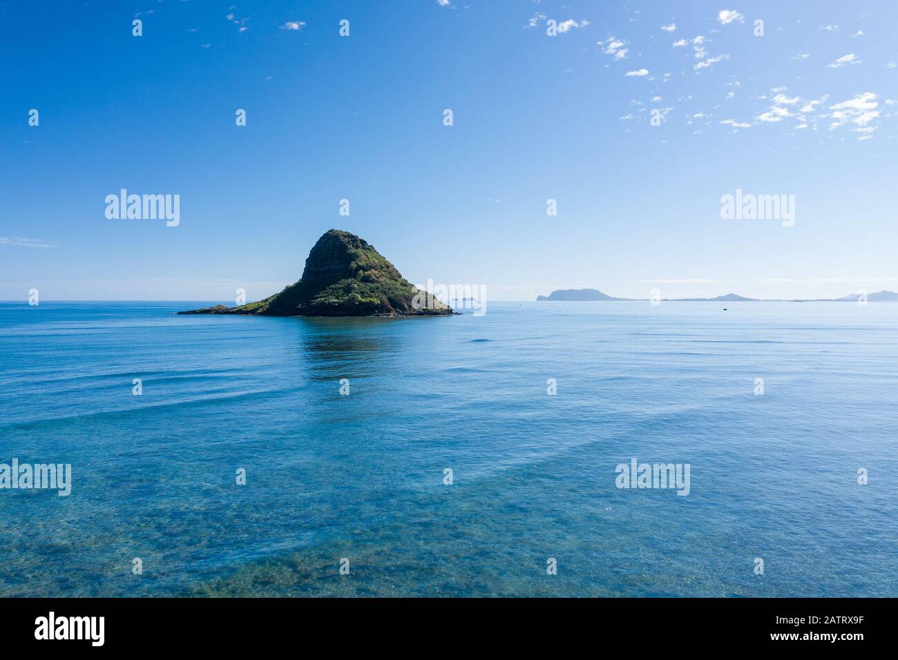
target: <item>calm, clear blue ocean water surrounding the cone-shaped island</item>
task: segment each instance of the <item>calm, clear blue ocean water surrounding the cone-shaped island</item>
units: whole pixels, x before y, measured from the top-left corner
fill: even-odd
[[[0,304],[0,595],[898,596],[898,304],[200,305]]]

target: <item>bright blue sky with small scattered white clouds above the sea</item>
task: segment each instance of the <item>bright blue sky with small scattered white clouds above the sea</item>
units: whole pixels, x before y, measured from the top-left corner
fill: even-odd
[[[492,300],[898,290],[894,2],[4,0],[0,25],[0,299],[260,299],[331,227]],[[107,219],[122,188],[180,224]],[[721,219],[736,189],[794,195],[795,225]]]

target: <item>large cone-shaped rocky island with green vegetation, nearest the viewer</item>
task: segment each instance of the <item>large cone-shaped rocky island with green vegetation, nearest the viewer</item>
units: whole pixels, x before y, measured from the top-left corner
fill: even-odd
[[[258,303],[217,304],[179,314],[251,316],[445,316],[449,305],[420,291],[368,242],[331,229],[305,260],[303,277]]]

